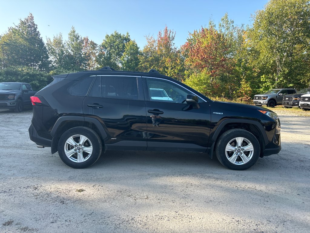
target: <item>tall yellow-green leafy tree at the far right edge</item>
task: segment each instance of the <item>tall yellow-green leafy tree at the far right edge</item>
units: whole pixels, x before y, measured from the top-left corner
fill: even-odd
[[[309,25],[307,0],[270,0],[256,12],[249,38],[263,89],[302,88],[300,81],[309,74]]]

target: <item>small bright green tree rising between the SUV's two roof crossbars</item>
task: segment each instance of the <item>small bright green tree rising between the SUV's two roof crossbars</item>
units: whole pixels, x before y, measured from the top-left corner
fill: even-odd
[[[125,44],[121,57],[122,70],[137,71],[139,62],[139,47],[134,40],[131,40]]]

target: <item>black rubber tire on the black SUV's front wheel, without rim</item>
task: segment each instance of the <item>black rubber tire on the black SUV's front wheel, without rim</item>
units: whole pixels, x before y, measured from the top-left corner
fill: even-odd
[[[228,154],[228,158],[226,156],[226,146],[231,140],[238,138],[238,137],[243,137],[244,139],[248,140],[253,145],[253,152],[243,151],[242,156],[250,157],[250,160],[244,164],[242,164],[243,159],[241,159],[241,156],[235,155],[235,152],[229,152],[229,153],[232,153],[234,156],[237,157],[235,163],[238,163],[238,164],[232,163],[228,160],[228,158],[232,158],[232,156],[229,157],[229,154]],[[249,144],[246,144],[246,141],[243,140],[242,145],[247,146]],[[232,130],[228,130],[224,132],[219,137],[219,139],[216,142],[215,154],[219,162],[225,167],[232,169],[232,170],[245,170],[245,169],[248,169],[249,167],[252,167],[257,161],[257,159],[259,158],[260,145],[259,145],[257,138],[253,134],[251,134],[249,131],[242,130],[242,129],[232,129]]]

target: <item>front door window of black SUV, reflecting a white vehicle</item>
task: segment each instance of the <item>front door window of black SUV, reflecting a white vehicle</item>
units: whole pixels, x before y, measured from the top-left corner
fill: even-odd
[[[190,91],[170,81],[147,78],[146,83],[151,101],[184,103],[187,95],[193,95]],[[201,102],[200,98],[199,102]]]

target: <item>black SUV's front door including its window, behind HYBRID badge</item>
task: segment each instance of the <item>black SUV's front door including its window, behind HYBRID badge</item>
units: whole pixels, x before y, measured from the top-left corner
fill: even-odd
[[[210,134],[210,105],[199,98],[199,108],[185,103],[194,95],[162,78],[143,77],[147,114],[147,150],[205,152]]]

